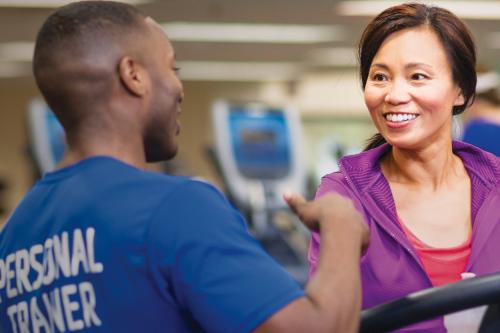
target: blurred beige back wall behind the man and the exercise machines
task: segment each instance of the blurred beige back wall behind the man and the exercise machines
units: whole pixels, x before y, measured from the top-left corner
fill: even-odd
[[[210,110],[217,99],[262,101],[271,104],[294,103],[303,112],[306,144],[305,158],[317,158],[318,141],[325,136],[338,136],[350,146],[359,146],[372,132],[367,114],[360,112],[360,94],[354,83],[346,81],[349,74],[342,72],[333,85],[322,76],[321,80],[306,78],[302,83],[251,83],[251,82],[194,82],[184,83],[185,101],[181,115],[182,131],[178,156],[171,162],[180,174],[203,177],[221,186],[216,171],[206,156],[206,147],[212,145]],[[352,81],[354,82],[354,81]],[[335,90],[342,86],[342,92]],[[354,101],[345,100],[346,89]],[[333,91],[330,96],[325,96]],[[323,103],[315,101],[321,95]],[[38,97],[31,79],[0,79],[0,177],[8,182],[6,203],[9,208],[22,198],[33,181],[33,169],[26,148],[26,108],[30,100]],[[329,98],[328,98],[329,97]],[[340,99],[343,100],[340,100]],[[340,117],[340,118],[339,118]],[[351,117],[351,118],[350,118]],[[367,133],[366,137],[362,134]],[[308,163],[314,167],[314,163]],[[154,166],[153,166],[154,167]],[[7,214],[0,217],[0,224]]]

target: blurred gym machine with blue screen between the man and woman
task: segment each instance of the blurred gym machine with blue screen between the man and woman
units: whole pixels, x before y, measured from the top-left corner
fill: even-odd
[[[215,159],[236,206],[264,248],[302,283],[309,232],[289,213],[285,191],[304,193],[300,116],[290,107],[219,100],[212,107]]]

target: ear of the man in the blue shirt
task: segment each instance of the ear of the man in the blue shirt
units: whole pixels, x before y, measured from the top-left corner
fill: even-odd
[[[125,88],[136,96],[143,96],[148,89],[148,73],[137,60],[123,57],[118,64],[118,75]]]

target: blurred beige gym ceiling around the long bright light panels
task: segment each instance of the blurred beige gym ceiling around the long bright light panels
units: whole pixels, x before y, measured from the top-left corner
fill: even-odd
[[[473,1],[454,2],[465,6]],[[17,0],[17,3],[22,4],[23,0]],[[489,3],[498,4],[493,1]],[[356,43],[369,17],[340,15],[339,4],[340,1],[334,0],[151,0],[138,6],[160,23],[260,23],[275,24],[276,29],[283,27],[281,25],[327,26],[335,29],[335,36],[332,33],[330,40],[315,43],[182,41],[172,37],[181,67],[184,67],[183,64],[187,66],[184,79],[204,80],[210,79],[209,76],[197,78],[196,73],[189,73],[190,66],[196,68],[196,71],[202,71],[201,64],[207,65],[208,62],[209,66],[214,64],[212,67],[218,71],[232,72],[231,67],[228,69],[222,65],[244,63],[247,69],[267,65],[260,72],[256,69],[254,74],[269,72],[268,79],[272,79],[273,75],[279,79],[285,72],[283,66],[295,66],[295,69],[300,68],[301,71],[355,66]],[[0,1],[0,80],[30,76],[32,44],[26,42],[33,42],[38,28],[52,11],[51,8],[1,7]],[[500,17],[487,20],[466,19],[466,22],[476,37],[480,63],[500,69],[500,37],[492,35],[493,32],[500,31]],[[166,30],[168,34],[168,27]],[[13,61],[7,48],[2,48],[2,45],[9,45],[4,44],[8,42],[16,42],[18,49],[24,48],[24,59]],[[493,45],[494,42],[498,45]],[[215,64],[222,67],[216,67]],[[192,67],[194,65],[198,67]],[[283,67],[282,71],[274,73],[273,68],[280,65]],[[250,76],[249,80],[258,80],[259,75],[263,77],[257,74]],[[226,73],[222,78],[229,81],[240,79],[243,80],[243,74],[237,70],[234,70],[233,76]]]

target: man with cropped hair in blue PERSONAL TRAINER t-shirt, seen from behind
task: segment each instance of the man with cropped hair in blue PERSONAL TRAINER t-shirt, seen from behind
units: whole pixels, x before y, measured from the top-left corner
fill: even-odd
[[[33,69],[69,150],[0,234],[0,331],[357,329],[367,232],[350,202],[287,197],[324,238],[304,292],[212,186],[144,171],[176,154],[183,99],[154,20],[70,4],[42,26]]]

